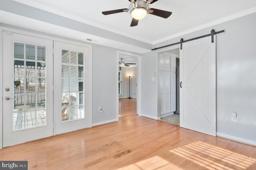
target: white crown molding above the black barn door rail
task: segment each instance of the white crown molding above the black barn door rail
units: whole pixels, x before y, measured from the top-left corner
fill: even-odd
[[[230,20],[234,20],[236,18],[240,18],[242,16],[246,16],[246,15],[249,15],[249,14],[252,14],[252,13],[255,13],[256,12],[256,7],[253,7],[253,8],[250,8],[248,10],[244,10],[242,12],[238,12],[236,14],[232,14],[230,16],[227,16],[227,17],[224,17],[224,18],[221,18],[221,19],[218,19],[218,20],[215,20],[215,21],[212,21],[212,22],[208,22],[206,24],[203,24],[203,25],[199,25],[197,27],[194,27],[192,29],[188,29],[186,31],[182,31],[180,33],[176,33],[174,35],[170,35],[168,37],[165,37],[165,38],[162,38],[162,39],[158,39],[156,41],[153,41],[153,45],[157,44],[157,43],[162,43],[164,41],[167,41],[169,39],[173,39],[173,38],[176,38],[176,37],[180,37],[182,35],[186,35],[188,33],[192,33],[192,32],[195,32],[195,31],[199,31],[201,29],[204,29],[204,28],[208,28],[208,27],[211,27],[211,26],[214,26],[214,25],[217,25],[217,24],[220,24],[220,23],[224,23],[226,21],[230,21]]]

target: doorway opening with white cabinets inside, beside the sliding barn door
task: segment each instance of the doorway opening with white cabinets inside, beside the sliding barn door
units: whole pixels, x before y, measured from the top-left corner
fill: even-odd
[[[180,49],[158,55],[158,118],[180,125]]]

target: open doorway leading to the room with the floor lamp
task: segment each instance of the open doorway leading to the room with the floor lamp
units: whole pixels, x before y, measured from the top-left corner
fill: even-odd
[[[118,120],[140,115],[141,56],[118,52]]]

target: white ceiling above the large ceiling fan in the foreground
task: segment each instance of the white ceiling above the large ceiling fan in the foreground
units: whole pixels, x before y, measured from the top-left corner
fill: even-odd
[[[256,6],[256,0],[158,0],[151,8],[173,12],[168,19],[148,15],[138,26],[130,27],[132,16],[109,16],[102,11],[128,8],[128,0],[16,0],[63,16],[84,19],[88,24],[120,33],[140,41],[157,43],[166,37],[219,20]]]

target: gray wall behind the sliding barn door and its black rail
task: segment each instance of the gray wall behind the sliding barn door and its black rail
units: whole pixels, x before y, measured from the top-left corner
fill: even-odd
[[[226,30],[225,34],[216,38],[217,132],[233,139],[256,143],[256,13],[177,37],[154,47],[178,42],[180,38],[186,40],[208,34],[211,29]],[[150,82],[149,79],[156,70],[156,60],[152,59],[155,53],[156,51],[146,53],[142,58],[142,85],[143,92],[146,92],[142,100],[148,106],[143,106],[143,111],[153,115],[157,115],[157,110],[151,108],[156,102],[156,94],[153,90],[150,92],[149,88],[156,89],[156,82]],[[146,58],[150,61],[146,61]],[[232,121],[233,111],[237,113],[237,122]]]

